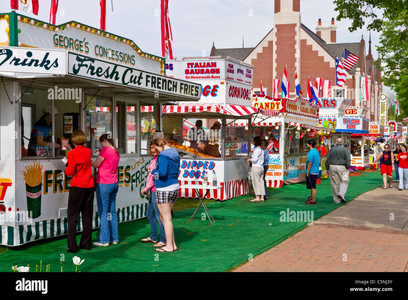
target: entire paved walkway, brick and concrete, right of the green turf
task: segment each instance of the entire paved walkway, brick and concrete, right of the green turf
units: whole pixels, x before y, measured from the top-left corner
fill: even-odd
[[[234,272],[404,271],[408,191],[397,187],[362,194]]]

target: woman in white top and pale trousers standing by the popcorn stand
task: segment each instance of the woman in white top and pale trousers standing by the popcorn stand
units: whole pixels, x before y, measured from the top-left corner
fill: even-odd
[[[252,199],[251,202],[264,202],[264,151],[262,151],[262,148],[265,148],[265,143],[260,136],[255,136],[254,146],[252,158],[247,160],[252,162],[251,179],[255,191],[255,199]]]

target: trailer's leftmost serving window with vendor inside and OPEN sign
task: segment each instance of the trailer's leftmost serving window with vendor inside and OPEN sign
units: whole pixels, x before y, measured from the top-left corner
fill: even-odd
[[[64,156],[67,148],[63,141],[79,129],[80,104],[75,95],[70,89],[24,86],[20,92],[21,157]]]

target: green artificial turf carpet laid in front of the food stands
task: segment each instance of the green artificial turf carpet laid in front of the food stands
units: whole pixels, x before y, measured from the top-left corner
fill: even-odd
[[[350,177],[346,200],[381,186],[379,171],[363,172]],[[11,266],[50,264],[51,271],[75,271],[73,256],[85,259],[78,271],[226,271],[242,264],[251,257],[270,249],[308,226],[307,222],[280,222],[280,212],[311,211],[314,219],[336,209],[333,204],[330,181],[322,179],[317,185],[317,204],[305,204],[309,195],[305,184],[292,184],[269,191],[263,203],[249,202],[253,195],[240,196],[225,202],[208,204],[216,222],[208,225],[202,220],[203,209],[195,220],[185,224],[195,209],[175,212],[173,227],[180,251],[159,253],[151,243],[140,239],[150,235],[147,218],[119,224],[120,243],[109,247],[93,247],[90,251],[68,253],[66,237],[39,240],[11,247],[0,254],[0,271],[11,271]],[[184,201],[184,200],[183,200]],[[313,226],[313,225],[312,225]],[[98,230],[93,231],[92,242],[97,241]],[[77,236],[79,242],[80,236]]]

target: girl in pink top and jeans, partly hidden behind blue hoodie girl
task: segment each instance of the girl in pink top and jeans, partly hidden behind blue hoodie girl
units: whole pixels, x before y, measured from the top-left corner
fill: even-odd
[[[147,193],[149,193],[150,191],[149,204],[147,204],[147,218],[149,219],[150,222],[151,235],[149,238],[142,239],[142,243],[157,243],[157,222],[159,222],[160,242],[154,244],[153,247],[164,247],[166,246],[166,235],[164,234],[164,226],[162,221],[160,220],[160,212],[159,209],[157,208],[156,197],[154,193],[155,190],[154,175],[151,173],[151,171],[156,166],[157,156],[159,153],[157,153],[156,150],[153,148],[153,141],[150,142],[149,149],[150,149],[149,153],[151,156],[153,156],[153,159],[149,164],[149,175],[147,176],[147,184],[144,190],[142,191],[142,194],[147,195]]]

